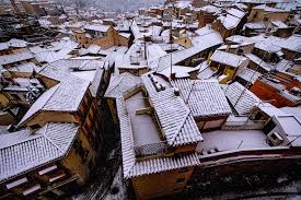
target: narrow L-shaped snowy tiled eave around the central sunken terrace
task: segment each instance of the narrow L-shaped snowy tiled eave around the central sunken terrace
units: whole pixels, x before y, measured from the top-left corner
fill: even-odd
[[[123,98],[117,98],[117,111],[120,123],[121,152],[124,177],[131,178],[149,175],[175,168],[195,166],[199,164],[195,153],[181,154],[177,156],[159,157],[148,161],[137,161],[134,152],[132,130]]]

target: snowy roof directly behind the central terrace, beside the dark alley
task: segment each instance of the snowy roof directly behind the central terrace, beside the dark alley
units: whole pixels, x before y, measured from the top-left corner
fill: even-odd
[[[120,97],[125,92],[141,84],[141,78],[125,72],[119,77],[113,77],[106,90],[105,97]]]

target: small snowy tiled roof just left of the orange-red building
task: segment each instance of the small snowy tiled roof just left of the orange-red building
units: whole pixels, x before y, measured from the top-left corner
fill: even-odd
[[[254,106],[262,102],[255,94],[239,82],[232,83],[224,90],[225,96],[240,115],[248,114]]]

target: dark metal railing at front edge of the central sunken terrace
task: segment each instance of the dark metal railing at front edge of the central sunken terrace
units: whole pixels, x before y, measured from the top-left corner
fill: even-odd
[[[136,157],[155,156],[171,152],[166,141],[135,146],[134,150]]]

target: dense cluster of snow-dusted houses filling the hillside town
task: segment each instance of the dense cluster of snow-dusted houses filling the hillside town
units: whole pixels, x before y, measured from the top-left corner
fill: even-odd
[[[298,1],[61,9],[37,15],[54,37],[1,38],[0,199],[72,195],[107,140],[120,139],[137,199],[222,180],[233,163],[244,174],[250,161],[256,172],[300,167]]]

